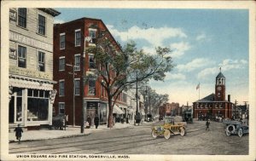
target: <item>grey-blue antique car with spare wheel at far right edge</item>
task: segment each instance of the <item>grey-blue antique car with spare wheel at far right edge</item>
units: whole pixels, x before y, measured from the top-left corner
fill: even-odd
[[[228,136],[235,134],[241,137],[242,135],[249,133],[249,127],[242,121],[225,119],[223,120],[223,124],[226,125],[225,133]]]

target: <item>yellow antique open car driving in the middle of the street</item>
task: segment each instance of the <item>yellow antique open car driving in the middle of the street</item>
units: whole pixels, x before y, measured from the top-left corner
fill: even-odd
[[[171,135],[185,135],[185,127],[183,124],[174,124],[174,119],[166,117],[165,123],[160,126],[154,126],[151,135],[156,138],[164,135],[166,139],[170,139]]]

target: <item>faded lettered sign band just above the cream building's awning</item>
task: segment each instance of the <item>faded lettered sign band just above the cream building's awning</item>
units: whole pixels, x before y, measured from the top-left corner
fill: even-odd
[[[42,79],[49,79],[49,80],[52,79],[52,76],[47,72],[32,71],[26,68],[20,68],[16,66],[9,66],[9,73],[32,77],[32,78],[42,78]]]

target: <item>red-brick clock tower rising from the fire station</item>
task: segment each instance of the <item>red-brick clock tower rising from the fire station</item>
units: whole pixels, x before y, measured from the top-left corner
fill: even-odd
[[[215,101],[225,101],[225,77],[219,68],[215,83]]]

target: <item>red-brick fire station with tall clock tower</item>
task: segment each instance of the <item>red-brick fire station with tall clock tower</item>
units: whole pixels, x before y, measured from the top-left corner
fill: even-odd
[[[231,118],[233,103],[225,100],[225,77],[222,72],[218,73],[215,82],[215,94],[207,95],[201,100],[193,102],[194,118],[207,119],[212,117]]]

